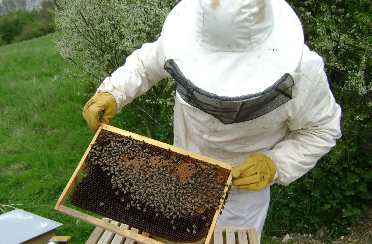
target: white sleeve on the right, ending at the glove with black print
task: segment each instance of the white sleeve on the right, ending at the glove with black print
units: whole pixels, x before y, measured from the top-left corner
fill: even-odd
[[[286,121],[289,134],[265,153],[278,172],[275,182],[282,185],[308,172],[341,136],[341,108],[330,91],[323,60],[306,46],[304,49],[304,77],[292,101],[294,113]]]

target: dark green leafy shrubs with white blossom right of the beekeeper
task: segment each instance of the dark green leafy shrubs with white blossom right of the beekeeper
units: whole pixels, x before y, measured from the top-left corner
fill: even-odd
[[[331,235],[371,207],[372,1],[289,0],[304,27],[305,42],[324,59],[328,82],[342,108],[342,137],[309,173],[272,188],[266,230]],[[285,219],[283,221],[283,219]]]

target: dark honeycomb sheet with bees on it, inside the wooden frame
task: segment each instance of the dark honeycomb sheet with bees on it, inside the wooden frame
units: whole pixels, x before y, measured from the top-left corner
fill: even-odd
[[[218,165],[104,129],[86,164],[71,204],[174,242],[206,238],[230,175]]]

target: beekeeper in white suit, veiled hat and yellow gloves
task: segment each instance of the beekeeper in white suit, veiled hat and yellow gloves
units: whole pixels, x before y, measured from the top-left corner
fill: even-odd
[[[84,107],[95,132],[164,77],[176,82],[174,146],[237,165],[217,225],[255,227],[340,137],[323,60],[283,0],[183,0],[160,38],[128,56]],[[102,115],[99,118],[99,114]]]

